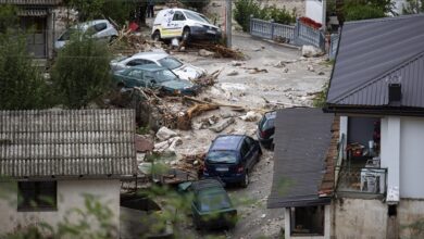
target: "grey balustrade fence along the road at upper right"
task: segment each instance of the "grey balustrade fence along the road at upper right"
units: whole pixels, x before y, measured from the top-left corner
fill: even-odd
[[[321,49],[325,48],[325,37],[321,30],[297,21],[295,26],[284,25],[263,20],[250,20],[250,34],[272,40],[284,40],[287,43],[303,46],[311,45]]]

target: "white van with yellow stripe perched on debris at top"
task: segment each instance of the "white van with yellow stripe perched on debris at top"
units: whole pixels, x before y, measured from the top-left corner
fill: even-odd
[[[158,13],[153,22],[152,39],[180,38],[182,40],[221,38],[221,29],[203,14],[186,9],[165,9]]]

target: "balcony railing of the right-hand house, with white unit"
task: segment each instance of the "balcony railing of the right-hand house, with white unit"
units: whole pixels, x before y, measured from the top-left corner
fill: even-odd
[[[387,168],[336,166],[337,192],[386,193]]]

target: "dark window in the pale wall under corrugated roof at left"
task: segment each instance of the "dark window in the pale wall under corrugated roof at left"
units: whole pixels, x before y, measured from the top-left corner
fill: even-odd
[[[20,181],[17,211],[57,210],[55,181]]]

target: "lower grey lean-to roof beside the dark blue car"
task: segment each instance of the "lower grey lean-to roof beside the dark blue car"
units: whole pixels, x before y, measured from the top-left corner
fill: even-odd
[[[319,189],[332,139],[333,114],[321,109],[285,109],[275,122],[274,176],[267,207],[325,204]]]

